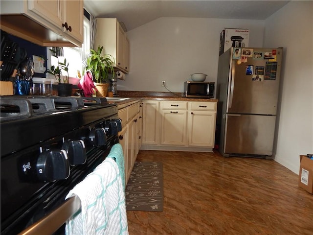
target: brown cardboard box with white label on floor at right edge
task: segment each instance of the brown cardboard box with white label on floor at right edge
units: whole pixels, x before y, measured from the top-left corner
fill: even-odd
[[[313,193],[313,160],[300,155],[299,187]]]

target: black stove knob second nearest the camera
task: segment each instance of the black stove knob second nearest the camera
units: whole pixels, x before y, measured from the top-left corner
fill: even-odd
[[[67,152],[70,165],[86,163],[87,155],[84,141],[65,141],[62,149]]]

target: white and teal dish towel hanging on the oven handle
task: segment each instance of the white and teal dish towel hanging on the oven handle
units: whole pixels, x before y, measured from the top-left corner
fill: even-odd
[[[81,211],[67,221],[67,235],[128,235],[124,177],[112,159],[114,155],[117,160],[120,151],[123,156],[121,145],[115,144],[111,157],[67,194],[67,198],[76,194],[81,200]]]

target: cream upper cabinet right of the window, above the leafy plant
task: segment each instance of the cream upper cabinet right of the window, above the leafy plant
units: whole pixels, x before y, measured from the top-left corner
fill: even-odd
[[[129,41],[122,26],[115,18],[97,18],[94,49],[103,46],[103,53],[113,56],[118,70],[129,71]]]

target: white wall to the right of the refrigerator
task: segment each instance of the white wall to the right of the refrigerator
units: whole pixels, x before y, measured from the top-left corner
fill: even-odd
[[[265,47],[284,47],[275,161],[299,173],[313,153],[313,1],[291,1],[265,21]]]

